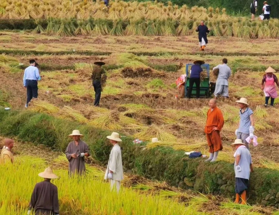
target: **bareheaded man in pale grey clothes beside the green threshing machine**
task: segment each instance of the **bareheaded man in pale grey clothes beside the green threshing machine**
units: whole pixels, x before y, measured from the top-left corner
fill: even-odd
[[[222,60],[222,64],[219,64],[218,66],[213,67],[213,70],[219,69],[217,81],[216,81],[216,87],[214,91],[214,97],[217,99],[219,95],[229,98],[229,81],[232,74],[232,70],[227,65],[228,60],[224,58]]]

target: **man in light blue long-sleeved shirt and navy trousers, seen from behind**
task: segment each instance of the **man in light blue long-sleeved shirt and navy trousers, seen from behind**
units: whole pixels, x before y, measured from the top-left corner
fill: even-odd
[[[27,91],[27,101],[25,107],[28,107],[28,103],[32,98],[38,98],[38,81],[41,79],[39,69],[35,67],[35,60],[31,59],[23,75],[23,86]]]

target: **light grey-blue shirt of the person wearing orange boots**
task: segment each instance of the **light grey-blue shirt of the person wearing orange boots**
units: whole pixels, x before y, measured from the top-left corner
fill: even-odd
[[[234,162],[234,172],[235,178],[245,178],[249,180],[250,177],[250,164],[252,163],[252,157],[250,151],[246,147],[239,147],[236,150],[236,155],[240,155],[240,161],[238,165],[241,168],[241,171],[236,170]]]

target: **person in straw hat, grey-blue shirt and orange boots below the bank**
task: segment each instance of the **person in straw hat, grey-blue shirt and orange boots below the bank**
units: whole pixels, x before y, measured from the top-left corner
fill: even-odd
[[[253,172],[252,157],[250,151],[246,148],[241,139],[236,139],[231,146],[234,146],[234,172],[235,172],[235,193],[234,203],[246,204],[246,190],[249,186],[250,171]]]

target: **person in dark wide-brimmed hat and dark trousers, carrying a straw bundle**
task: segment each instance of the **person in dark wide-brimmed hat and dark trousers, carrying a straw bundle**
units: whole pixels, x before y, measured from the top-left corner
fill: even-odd
[[[94,106],[99,106],[100,98],[101,98],[101,90],[102,90],[101,77],[102,77],[102,74],[105,74],[105,70],[101,66],[105,65],[105,63],[97,61],[97,62],[94,62],[94,64],[96,66],[94,66],[93,72],[91,75],[92,84],[93,84],[94,91],[95,91]]]

